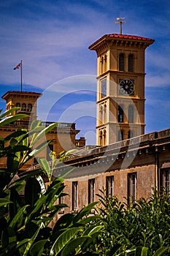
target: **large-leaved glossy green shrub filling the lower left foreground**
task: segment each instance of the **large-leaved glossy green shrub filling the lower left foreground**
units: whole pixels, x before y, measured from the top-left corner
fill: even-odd
[[[10,110],[11,113],[13,111]],[[2,114],[0,119],[7,113]],[[4,118],[0,126],[26,116],[15,115]],[[101,225],[91,225],[98,217],[88,217],[96,203],[82,208],[77,214],[65,214],[58,219],[54,227],[50,222],[56,217],[65,204],[56,204],[63,193],[61,178],[52,178],[56,163],[52,153],[52,167],[47,160],[39,160],[42,170],[28,172],[25,176],[14,177],[23,165],[35,157],[49,141],[39,143],[39,140],[53,129],[56,124],[41,127],[40,121],[34,121],[31,129],[18,129],[6,138],[0,138],[0,157],[7,157],[7,167],[0,170],[0,255],[82,255],[88,252],[90,244],[94,244],[96,236],[101,232]],[[37,147],[36,145],[39,144]],[[33,148],[33,149],[32,149]],[[49,184],[42,193],[37,177],[44,172]],[[20,191],[24,189],[24,195]]]

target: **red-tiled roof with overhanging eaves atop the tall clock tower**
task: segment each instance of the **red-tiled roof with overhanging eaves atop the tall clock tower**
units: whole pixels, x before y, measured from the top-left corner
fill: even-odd
[[[89,49],[97,50],[107,42],[115,42],[116,44],[125,43],[126,45],[131,45],[134,42],[138,45],[143,45],[144,48],[147,48],[147,46],[152,45],[155,40],[147,37],[139,37],[128,34],[104,34],[103,37],[99,38],[96,42],[93,42],[93,44],[89,46]]]

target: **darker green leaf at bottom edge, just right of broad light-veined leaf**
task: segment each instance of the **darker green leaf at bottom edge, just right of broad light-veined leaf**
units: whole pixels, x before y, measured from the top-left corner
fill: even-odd
[[[61,252],[61,256],[68,256],[68,255],[74,255],[73,253],[75,252],[75,249],[78,246],[82,246],[82,244],[85,243],[85,241],[88,240],[88,236],[82,236],[78,238],[74,238],[74,240],[69,241],[68,244],[63,248],[63,251]]]

